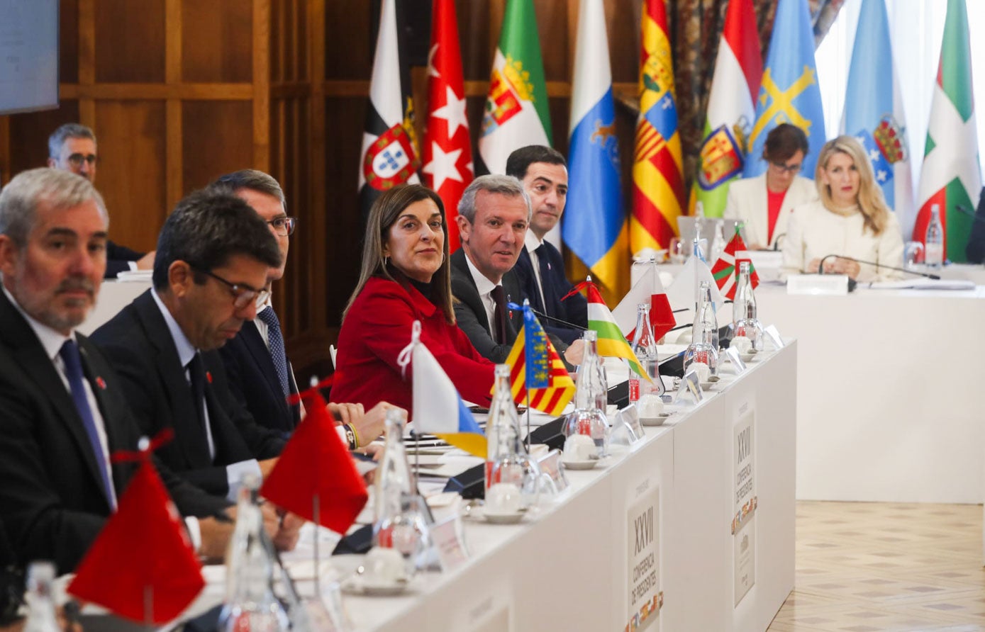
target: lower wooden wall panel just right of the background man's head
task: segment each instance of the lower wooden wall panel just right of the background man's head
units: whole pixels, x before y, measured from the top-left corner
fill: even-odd
[[[165,156],[166,114],[161,100],[100,100],[96,185],[109,211],[113,241],[149,252],[170,211]]]

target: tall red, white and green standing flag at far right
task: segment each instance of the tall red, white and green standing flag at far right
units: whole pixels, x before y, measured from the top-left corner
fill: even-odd
[[[948,0],[941,63],[930,106],[930,129],[920,172],[920,212],[913,239],[923,241],[930,210],[941,206],[945,229],[945,252],[952,261],[967,261],[965,248],[972,219],[957,211],[960,205],[972,211],[981,192],[978,167],[978,136],[975,103],[971,90],[971,48],[968,15],[964,0]]]

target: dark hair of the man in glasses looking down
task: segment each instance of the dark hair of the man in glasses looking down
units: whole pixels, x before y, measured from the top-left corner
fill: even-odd
[[[271,268],[281,265],[277,239],[252,207],[226,193],[196,191],[178,202],[164,221],[154,259],[154,287],[167,287],[167,270],[175,261],[211,271],[235,255]],[[204,284],[205,277],[196,274],[195,283]]]

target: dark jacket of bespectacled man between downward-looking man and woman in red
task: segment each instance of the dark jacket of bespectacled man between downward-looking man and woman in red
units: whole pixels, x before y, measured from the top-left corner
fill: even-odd
[[[267,309],[273,309],[268,307]],[[287,436],[300,420],[298,406],[288,406],[281,390],[281,381],[274,368],[270,350],[260,336],[256,323],[243,324],[235,338],[219,349],[226,366],[232,397],[243,403],[257,423]],[[292,393],[297,385],[291,363],[288,363],[288,379]]]

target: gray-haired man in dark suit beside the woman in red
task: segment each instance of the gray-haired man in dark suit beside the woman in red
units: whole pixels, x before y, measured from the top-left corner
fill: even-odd
[[[451,255],[455,319],[476,350],[503,362],[522,324],[506,303],[524,298],[513,267],[530,224],[530,198],[512,176],[483,175],[462,193],[456,221],[462,247]],[[569,363],[580,363],[580,341],[570,348],[551,342]]]

